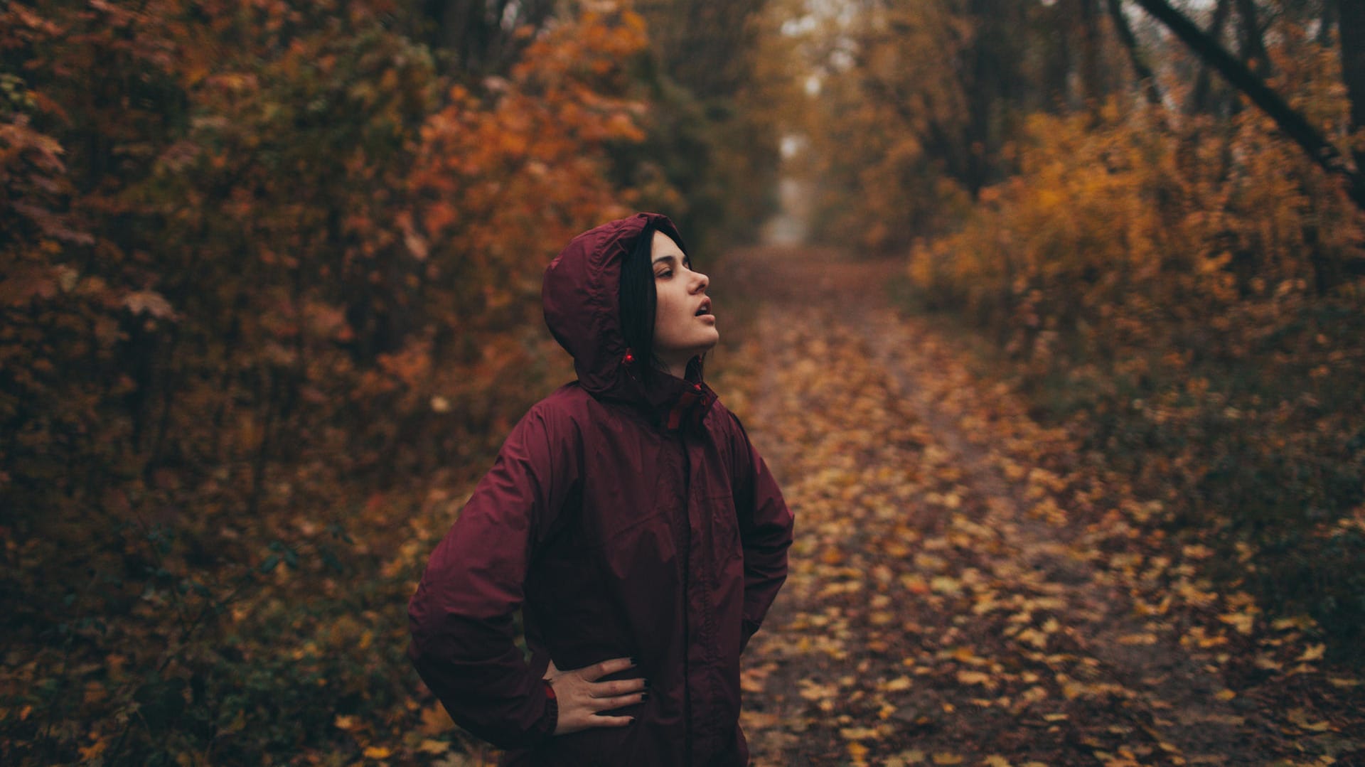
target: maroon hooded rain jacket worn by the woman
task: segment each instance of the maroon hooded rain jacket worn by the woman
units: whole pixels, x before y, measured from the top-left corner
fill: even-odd
[[[545,321],[579,379],[513,427],[431,554],[408,655],[504,764],[743,766],[740,652],[786,579],[792,515],[740,420],[702,381],[636,377],[620,330],[621,261],[640,213],[579,235],[550,263]],[[520,609],[527,663],[515,644]],[[625,727],[554,736],[550,662],[609,658],[646,677]]]

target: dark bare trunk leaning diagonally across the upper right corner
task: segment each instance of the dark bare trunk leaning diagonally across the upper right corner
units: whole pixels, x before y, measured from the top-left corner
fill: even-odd
[[[1365,12],[1362,4],[1365,0],[1340,0],[1342,3],[1342,18],[1345,20],[1347,15],[1347,8],[1354,5],[1357,11]],[[1189,45],[1194,53],[1201,59],[1208,61],[1215,67],[1237,90],[1245,93],[1253,104],[1260,106],[1279,128],[1291,138],[1295,143],[1308,151],[1308,156],[1313,158],[1324,171],[1328,173],[1340,176],[1346,179],[1347,191],[1351,201],[1355,202],[1362,210],[1365,210],[1365,176],[1358,171],[1347,165],[1346,158],[1342,153],[1336,150],[1335,146],[1323,138],[1323,134],[1317,131],[1302,115],[1295,112],[1283,98],[1259,78],[1254,72],[1246,68],[1245,64],[1233,57],[1216,40],[1212,40],[1185,14],[1177,11],[1166,0],[1137,0],[1137,4],[1147,10],[1153,18],[1166,25],[1175,37],[1179,37],[1185,45]],[[1345,41],[1346,25],[1342,25],[1342,40]],[[1358,42],[1351,44],[1358,45]],[[1343,45],[1343,52],[1346,46]],[[1358,55],[1358,53],[1357,53]],[[1353,111],[1354,111],[1353,104]]]

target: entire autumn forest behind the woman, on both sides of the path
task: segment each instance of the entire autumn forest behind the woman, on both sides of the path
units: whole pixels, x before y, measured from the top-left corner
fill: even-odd
[[[543,265],[637,209],[706,263],[782,198],[1360,665],[1362,42],[1353,0],[10,3],[0,762],[459,753],[403,610],[572,377]]]

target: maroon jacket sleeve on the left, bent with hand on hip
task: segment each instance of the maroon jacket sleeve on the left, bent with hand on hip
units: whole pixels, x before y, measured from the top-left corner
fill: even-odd
[[[515,644],[527,564],[579,479],[573,435],[532,408],[427,561],[408,658],[457,725],[500,748],[554,733],[558,706]]]

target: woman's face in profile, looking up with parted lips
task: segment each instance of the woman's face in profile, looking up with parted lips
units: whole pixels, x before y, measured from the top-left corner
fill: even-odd
[[[673,237],[654,232],[650,251],[654,262],[654,355],[669,371],[682,378],[687,363],[704,353],[721,340],[711,314],[711,299],[706,295],[710,278],[691,269]]]

